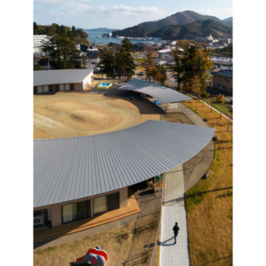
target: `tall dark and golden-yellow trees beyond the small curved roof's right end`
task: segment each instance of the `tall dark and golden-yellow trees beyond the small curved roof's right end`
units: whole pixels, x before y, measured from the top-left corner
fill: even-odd
[[[192,43],[192,45],[191,45]],[[209,75],[207,70],[213,65],[211,58],[213,51],[207,48],[207,44],[181,40],[176,43],[176,48],[169,52],[174,58],[175,65],[173,77],[177,82],[177,90],[183,83],[183,90],[193,93],[206,93]]]

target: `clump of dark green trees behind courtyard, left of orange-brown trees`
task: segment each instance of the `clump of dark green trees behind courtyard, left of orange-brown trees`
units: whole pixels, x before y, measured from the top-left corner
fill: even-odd
[[[102,61],[98,66],[113,78],[118,75],[119,79],[122,77],[129,80],[136,69],[136,64],[130,53],[132,49],[134,49],[134,45],[128,38],[121,42],[121,47],[117,50],[111,50],[109,47],[99,48],[99,57]]]

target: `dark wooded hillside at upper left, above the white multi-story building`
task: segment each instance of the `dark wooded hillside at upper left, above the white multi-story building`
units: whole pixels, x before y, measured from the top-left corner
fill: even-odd
[[[89,41],[86,39],[89,35],[82,30],[82,28],[67,27],[64,25],[59,26],[56,23],[51,25],[42,26],[33,22],[33,35],[65,35],[70,41],[74,43],[83,43],[88,45]]]

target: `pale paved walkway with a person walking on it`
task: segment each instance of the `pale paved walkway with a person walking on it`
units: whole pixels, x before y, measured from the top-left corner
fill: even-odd
[[[164,199],[160,235],[160,266],[189,266],[183,165],[167,171],[163,182]],[[180,231],[175,245],[173,227],[176,222]]]

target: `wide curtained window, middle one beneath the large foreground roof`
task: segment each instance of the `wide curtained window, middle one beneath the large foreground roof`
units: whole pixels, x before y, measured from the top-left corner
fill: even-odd
[[[90,217],[90,200],[62,206],[62,223]]]

